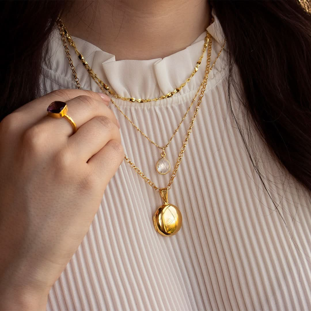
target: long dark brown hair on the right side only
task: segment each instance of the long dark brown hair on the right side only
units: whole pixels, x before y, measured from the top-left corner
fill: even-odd
[[[310,12],[298,0],[211,5],[227,40],[230,67],[239,68],[246,99],[241,96],[241,104],[271,151],[311,190]],[[232,79],[230,70],[228,85]]]

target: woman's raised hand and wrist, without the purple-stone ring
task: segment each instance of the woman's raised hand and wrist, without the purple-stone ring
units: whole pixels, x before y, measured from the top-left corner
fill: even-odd
[[[66,101],[76,133],[66,118],[46,116],[54,100]],[[108,100],[53,91],[0,122],[1,310],[45,310],[50,288],[89,230],[124,158]]]

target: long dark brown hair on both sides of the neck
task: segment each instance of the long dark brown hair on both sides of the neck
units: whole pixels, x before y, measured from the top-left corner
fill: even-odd
[[[305,2],[308,7],[309,1]],[[244,91],[240,104],[248,109],[280,163],[311,190],[310,12],[298,0],[211,0],[210,4],[227,40],[228,89],[230,83],[235,84],[235,63],[242,83],[235,87]],[[40,94],[45,43],[66,5],[65,1],[2,2],[0,121]],[[229,107],[234,115],[230,93]],[[243,129],[237,125],[242,135]],[[242,137],[261,178],[249,140]]]

